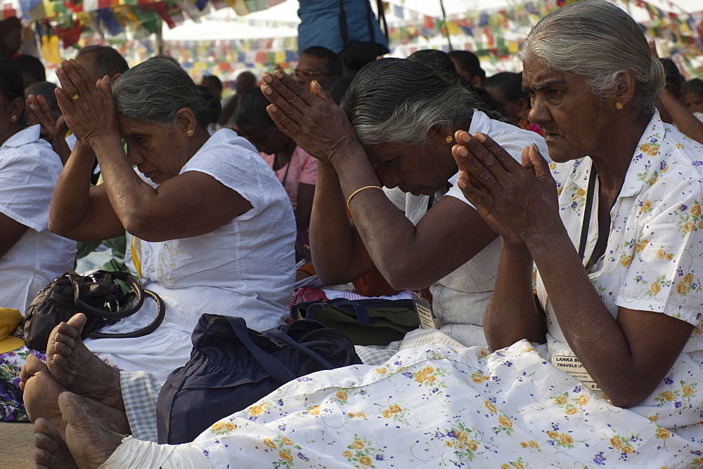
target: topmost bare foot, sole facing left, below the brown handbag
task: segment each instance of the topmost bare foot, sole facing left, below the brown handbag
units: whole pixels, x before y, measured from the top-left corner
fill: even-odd
[[[86,317],[78,313],[56,326],[46,344],[51,376],[67,390],[124,410],[120,372],[93,355],[81,340]]]

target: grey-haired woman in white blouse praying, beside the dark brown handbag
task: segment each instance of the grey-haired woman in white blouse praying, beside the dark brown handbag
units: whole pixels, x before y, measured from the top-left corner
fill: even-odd
[[[253,145],[228,129],[208,133],[219,114],[214,95],[167,59],[143,62],[111,89],[106,79],[90,83],[74,61],[58,77],[77,144],[49,226],[79,241],[126,231],[129,269],[166,303],[165,321],[148,336],[86,345],[120,369],[165,380],[190,356],[202,313],[244,317],[257,330],[283,324],[295,267],[290,202]],[[91,189],[95,157],[105,183]],[[101,331],[139,329],[155,310],[147,299],[136,315]]]

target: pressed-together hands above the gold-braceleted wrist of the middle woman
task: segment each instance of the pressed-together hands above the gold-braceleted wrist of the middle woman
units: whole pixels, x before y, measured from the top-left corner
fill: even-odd
[[[332,162],[360,145],[347,115],[317,81],[310,85],[310,92],[281,70],[265,73],[263,79],[262,93],[271,101],[266,107],[271,119],[314,158]]]

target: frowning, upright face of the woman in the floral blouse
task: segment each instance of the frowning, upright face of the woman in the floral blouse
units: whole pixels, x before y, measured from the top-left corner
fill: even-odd
[[[553,161],[598,154],[607,141],[614,103],[593,94],[584,77],[553,70],[537,58],[522,65],[522,85],[532,104],[528,119],[544,134]]]

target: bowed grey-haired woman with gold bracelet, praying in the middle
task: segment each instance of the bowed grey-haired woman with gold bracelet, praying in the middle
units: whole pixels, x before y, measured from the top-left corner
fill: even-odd
[[[283,81],[289,95],[304,92]],[[271,91],[264,86],[269,99]],[[515,159],[533,144],[546,154],[543,138],[479,110],[475,93],[415,60],[364,67],[342,100],[346,115],[324,99],[311,101],[304,115],[325,120],[321,129],[277,121],[318,159],[310,229],[318,276],[325,284],[350,282],[375,265],[396,289],[430,286],[434,325],[463,345],[485,345],[483,315],[501,245],[455,185],[453,131],[484,132]]]

